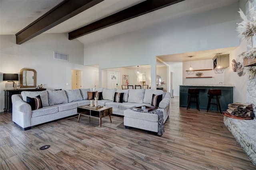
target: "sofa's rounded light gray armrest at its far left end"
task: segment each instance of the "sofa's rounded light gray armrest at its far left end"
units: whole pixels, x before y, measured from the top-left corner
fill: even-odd
[[[12,95],[12,121],[22,128],[31,127],[31,107],[21,95]]]

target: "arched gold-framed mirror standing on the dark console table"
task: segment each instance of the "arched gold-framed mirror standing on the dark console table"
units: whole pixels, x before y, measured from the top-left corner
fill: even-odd
[[[36,70],[23,68],[20,70],[20,88],[36,87]]]

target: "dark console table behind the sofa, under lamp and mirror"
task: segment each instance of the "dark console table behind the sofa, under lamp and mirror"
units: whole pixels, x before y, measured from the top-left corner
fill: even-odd
[[[46,89],[15,89],[4,90],[4,112],[12,112],[12,95],[18,95],[22,91],[44,91]]]

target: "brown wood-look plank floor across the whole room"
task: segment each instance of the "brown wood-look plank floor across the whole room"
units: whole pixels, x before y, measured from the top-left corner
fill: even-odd
[[[123,117],[81,116],[23,131],[0,113],[0,169],[251,169],[252,164],[218,112],[179,108],[171,99],[162,137],[126,129]],[[46,150],[41,146],[50,145]]]

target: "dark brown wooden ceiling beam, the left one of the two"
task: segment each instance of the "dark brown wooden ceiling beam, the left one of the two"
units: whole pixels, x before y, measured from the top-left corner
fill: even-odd
[[[64,0],[16,34],[16,44],[22,44],[50,28],[91,8],[103,0]]]

